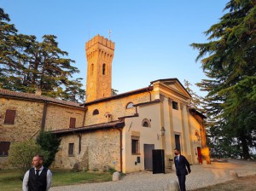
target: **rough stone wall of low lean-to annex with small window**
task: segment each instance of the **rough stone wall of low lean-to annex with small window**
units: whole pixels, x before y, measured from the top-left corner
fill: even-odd
[[[53,167],[79,170],[108,171],[113,168],[120,171],[120,134],[119,130],[96,130],[80,134],[81,150],[79,153],[79,135],[61,136],[60,151],[55,156]],[[74,143],[74,154],[68,156],[68,145]]]

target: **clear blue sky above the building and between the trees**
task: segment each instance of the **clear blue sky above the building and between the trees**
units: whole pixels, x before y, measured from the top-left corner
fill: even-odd
[[[224,15],[228,0],[0,0],[19,33],[53,34],[86,80],[85,43],[100,34],[115,43],[112,88],[125,93],[164,78],[184,79],[205,96],[196,83],[207,78],[198,50],[206,32]],[[111,33],[109,33],[109,30]]]

